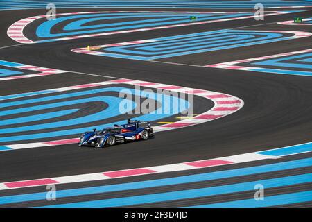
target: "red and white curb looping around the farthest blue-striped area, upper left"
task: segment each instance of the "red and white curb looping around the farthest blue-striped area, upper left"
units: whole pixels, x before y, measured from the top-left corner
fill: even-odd
[[[103,11],[103,12],[70,12],[70,13],[60,13],[60,14],[55,14],[56,16],[60,15],[78,15],[78,14],[96,14],[96,13],[187,13],[187,14],[207,14],[207,13],[213,13],[213,14],[236,14],[236,13],[246,13],[246,12],[166,12],[166,11]],[[254,12],[252,12],[254,13]],[[286,14],[288,12],[279,12],[279,11],[272,11],[265,16],[270,16],[270,15],[281,15],[281,14]],[[35,43],[33,40],[29,40],[23,33],[24,28],[28,25],[31,24],[31,22],[37,20],[37,19],[42,19],[45,17],[49,17],[51,15],[37,15],[33,17],[28,17],[25,19],[21,19],[14,24],[12,24],[8,30],[7,34],[8,36],[12,39],[15,40],[16,42],[19,43]],[[199,24],[209,24],[209,23],[214,23],[214,22],[225,22],[225,21],[232,21],[232,20],[237,20],[237,19],[249,19],[254,17],[254,15],[250,16],[243,16],[243,17],[237,17],[237,18],[229,18],[229,19],[216,19],[216,20],[211,20],[211,21],[203,21],[203,22],[189,22],[189,23],[184,23],[184,24],[175,24],[175,25],[168,25],[168,26],[157,26],[157,27],[152,27],[152,28],[136,28],[132,30],[125,30],[125,31],[114,31],[114,32],[107,32],[107,33],[96,33],[96,34],[90,34],[90,35],[76,35],[76,36],[71,36],[71,37],[60,37],[56,38],[54,40],[73,40],[73,39],[78,39],[78,38],[83,38],[83,37],[96,37],[96,36],[102,36],[102,35],[114,35],[114,34],[121,34],[121,33],[133,33],[133,32],[138,32],[138,31],[149,31],[149,30],[155,30],[155,29],[162,29],[162,28],[174,28],[174,27],[181,27],[181,26],[193,26],[193,25],[199,25]],[[94,30],[96,32],[96,30]],[[40,41],[38,41],[40,42]]]

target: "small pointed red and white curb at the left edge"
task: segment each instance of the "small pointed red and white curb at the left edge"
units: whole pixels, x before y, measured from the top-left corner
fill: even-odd
[[[3,65],[3,64],[1,64]],[[6,65],[4,65],[6,66]],[[21,78],[31,78],[31,77],[38,77],[38,76],[49,76],[53,74],[61,74],[67,71],[62,71],[59,69],[50,69],[50,68],[44,68],[44,67],[36,67],[33,65],[20,65],[20,66],[14,66],[12,68],[17,69],[24,69],[24,70],[31,70],[31,71],[38,71],[37,74],[28,74],[28,75],[21,75],[21,76],[10,76],[10,77],[3,77],[0,78],[0,81],[4,80],[15,80],[15,79],[21,79]]]

